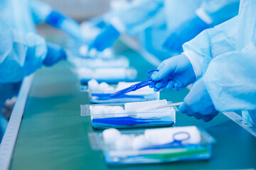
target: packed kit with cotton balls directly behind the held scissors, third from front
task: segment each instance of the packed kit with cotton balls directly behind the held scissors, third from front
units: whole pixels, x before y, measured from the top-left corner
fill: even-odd
[[[82,87],[82,91],[87,91],[90,103],[127,103],[135,101],[155,101],[159,100],[159,92],[145,86],[137,91],[131,91],[127,94],[110,97],[114,92],[125,89],[137,82],[124,82],[118,84],[107,84],[106,82],[98,83],[95,79],[88,81],[88,86]]]

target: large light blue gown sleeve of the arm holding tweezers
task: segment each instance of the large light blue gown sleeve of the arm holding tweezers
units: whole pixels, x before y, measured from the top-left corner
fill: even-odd
[[[255,54],[256,46],[251,42],[241,51],[210,62],[203,80],[218,111],[256,109]]]

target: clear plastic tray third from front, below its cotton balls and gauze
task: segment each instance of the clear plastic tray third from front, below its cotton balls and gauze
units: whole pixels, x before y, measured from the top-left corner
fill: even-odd
[[[110,85],[116,88],[117,85]],[[144,95],[129,95],[119,96],[117,98],[105,97],[106,94],[99,91],[92,91],[88,89],[88,86],[82,86],[81,91],[86,91],[89,94],[90,103],[128,103],[137,101],[156,101],[160,98],[160,93],[155,92],[153,94]]]

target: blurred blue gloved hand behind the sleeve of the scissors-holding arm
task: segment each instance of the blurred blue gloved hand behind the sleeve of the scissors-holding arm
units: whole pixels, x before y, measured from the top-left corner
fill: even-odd
[[[182,45],[185,42],[192,40],[207,28],[209,28],[209,25],[198,16],[195,16],[171,31],[169,37],[164,41],[163,47],[168,50],[182,52]]]

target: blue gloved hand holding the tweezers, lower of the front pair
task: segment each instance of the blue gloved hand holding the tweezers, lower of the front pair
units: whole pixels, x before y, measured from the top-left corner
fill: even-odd
[[[189,94],[184,98],[184,102],[179,107],[179,110],[188,116],[203,119],[205,122],[212,120],[218,114],[203,79],[199,79],[193,85]]]

